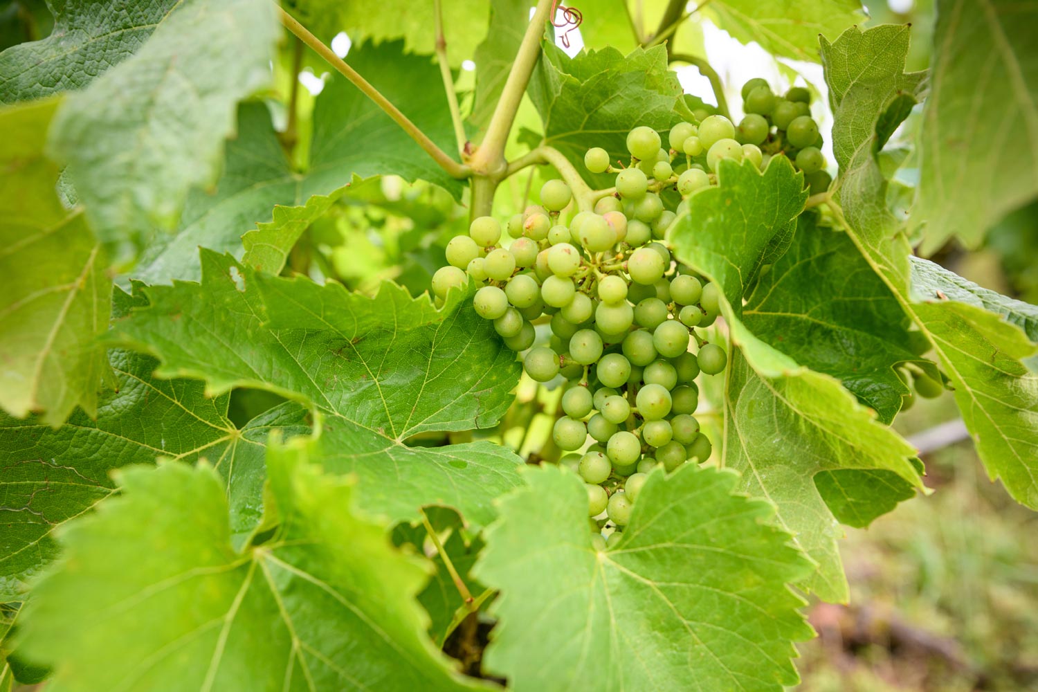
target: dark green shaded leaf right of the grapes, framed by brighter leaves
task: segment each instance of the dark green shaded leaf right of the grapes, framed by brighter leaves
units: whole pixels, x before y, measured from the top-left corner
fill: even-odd
[[[846,233],[816,219],[800,217],[790,249],[747,298],[742,322],[801,365],[840,380],[890,423],[909,393],[894,367],[926,361],[886,284]]]

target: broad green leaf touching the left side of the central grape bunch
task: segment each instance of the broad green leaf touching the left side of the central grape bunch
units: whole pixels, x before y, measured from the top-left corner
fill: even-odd
[[[512,400],[519,364],[464,292],[437,310],[390,283],[367,298],[257,274],[207,250],[201,258],[201,284],[144,288],[151,307],[117,324],[115,338],[157,354],[163,377],[203,379],[214,393],[268,389],[313,407],[322,463],[356,473],[373,513],[413,520],[440,504],[476,525],[493,518],[491,500],[518,482],[515,454],[490,442],[405,443],[426,431],[493,425]]]

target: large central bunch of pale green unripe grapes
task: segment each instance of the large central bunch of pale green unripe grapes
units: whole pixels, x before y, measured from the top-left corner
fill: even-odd
[[[673,191],[687,197],[714,182],[674,146],[694,132],[691,123],[679,123],[666,150],[658,133],[635,128],[627,137],[626,167],[613,168],[604,150],[591,149],[591,171],[617,172],[616,192],[601,196],[593,211],[564,223],[561,212],[571,205],[572,192],[563,181],[549,181],[541,190],[543,206],[509,220],[515,240],[508,247],[501,224],[480,217],[467,236],[450,240],[448,266],[433,277],[441,299],[469,278],[485,283],[473,298],[475,311],[523,353],[532,380],[561,383],[552,439],[569,452],[561,463],[585,482],[593,541],[603,546],[600,529],[619,538],[652,468],[671,471],[711,452],[693,415],[695,380],[721,372],[728,355],[698,330],[717,319],[720,290],[676,261],[664,240],[676,218],[664,209],[679,199]],[[716,166],[711,153],[722,139],[712,143],[708,168]],[[736,146],[741,156],[742,145]]]

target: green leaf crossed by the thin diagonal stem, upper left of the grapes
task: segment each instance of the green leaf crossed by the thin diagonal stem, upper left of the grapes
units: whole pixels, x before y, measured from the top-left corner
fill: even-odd
[[[427,88],[439,79],[428,58],[403,54],[397,41],[354,46],[350,62],[443,150],[454,150],[446,96]],[[134,276],[148,283],[197,280],[198,246],[241,257],[242,236],[257,223],[266,224],[268,237],[273,233],[280,240],[270,249],[284,252],[307,224],[361,177],[422,178],[461,197],[461,184],[342,77],[329,78],[317,99],[309,148],[306,170],[293,170],[266,107],[243,105],[238,112],[238,137],[227,143],[224,172],[215,192],[191,193],[176,233],[160,237]],[[276,271],[269,258],[261,264],[267,271]]]

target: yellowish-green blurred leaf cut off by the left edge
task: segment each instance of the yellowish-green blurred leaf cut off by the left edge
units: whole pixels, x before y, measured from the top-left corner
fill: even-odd
[[[62,204],[58,169],[43,154],[58,105],[0,110],[0,408],[44,412],[57,425],[76,406],[97,410],[111,281],[80,206]],[[18,133],[17,136],[13,133]]]

